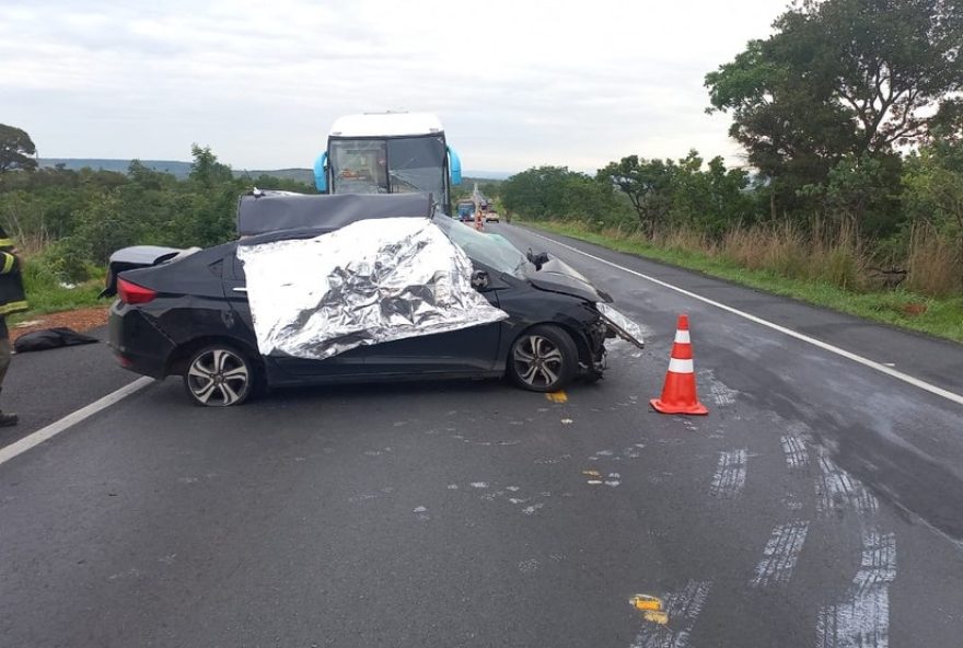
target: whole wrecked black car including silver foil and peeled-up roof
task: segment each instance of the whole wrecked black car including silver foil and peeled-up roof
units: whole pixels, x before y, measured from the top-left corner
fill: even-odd
[[[596,380],[606,338],[638,327],[545,254],[434,215],[430,195],[241,198],[237,241],[111,259],[120,364],[179,375],[206,406],[268,387],[508,377],[553,392]]]

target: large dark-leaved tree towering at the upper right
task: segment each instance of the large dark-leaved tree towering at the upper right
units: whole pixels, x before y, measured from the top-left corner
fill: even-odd
[[[844,157],[891,154],[959,112],[960,0],[803,0],[706,76],[712,108],[773,180],[773,211]]]

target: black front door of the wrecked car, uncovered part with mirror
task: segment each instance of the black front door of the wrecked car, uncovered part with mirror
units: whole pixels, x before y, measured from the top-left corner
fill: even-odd
[[[498,308],[498,288],[507,288],[497,275],[481,293]],[[495,368],[503,324],[480,324],[449,333],[436,333],[367,347],[366,371],[379,375],[398,374],[484,374]]]

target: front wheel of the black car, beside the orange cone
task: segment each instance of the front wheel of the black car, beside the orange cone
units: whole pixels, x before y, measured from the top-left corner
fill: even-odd
[[[539,324],[512,343],[507,373],[512,382],[532,392],[557,392],[578,374],[579,350],[565,329]]]

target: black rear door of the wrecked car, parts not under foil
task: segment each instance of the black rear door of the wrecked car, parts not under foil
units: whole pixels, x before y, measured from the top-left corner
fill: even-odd
[[[250,332],[252,339],[257,339],[254,334],[254,320],[251,315],[251,304],[247,301],[247,284],[244,276],[244,264],[236,254],[231,254],[224,259],[224,296],[231,304],[231,309],[237,315],[239,326],[244,326]],[[292,358],[290,356],[270,356],[266,358],[269,380],[275,372],[280,375],[275,379],[285,380],[288,377],[337,377],[359,375],[364,372],[363,349],[351,349],[334,358],[326,360],[311,360],[306,358]],[[288,374],[288,377],[283,375]]]

